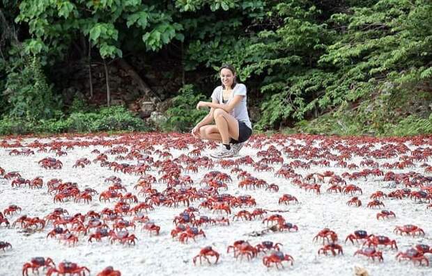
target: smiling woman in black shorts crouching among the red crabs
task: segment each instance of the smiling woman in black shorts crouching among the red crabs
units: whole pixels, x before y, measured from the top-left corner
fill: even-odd
[[[192,135],[221,142],[219,149],[210,156],[226,158],[237,155],[252,135],[252,124],[246,106],[246,86],[236,82],[236,70],[231,65],[219,69],[221,86],[213,90],[212,102],[199,102],[196,108],[210,107]],[[215,120],[215,124],[211,124]]]

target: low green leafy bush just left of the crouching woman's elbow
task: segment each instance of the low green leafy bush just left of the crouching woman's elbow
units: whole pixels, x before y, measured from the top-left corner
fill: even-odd
[[[190,131],[208,111],[196,110],[196,104],[206,97],[194,91],[194,86],[187,84],[173,98],[172,107],[167,110],[168,119],[162,126],[164,131]]]

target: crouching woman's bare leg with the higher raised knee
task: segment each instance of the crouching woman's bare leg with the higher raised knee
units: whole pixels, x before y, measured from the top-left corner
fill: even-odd
[[[229,144],[229,138],[238,139],[238,120],[235,117],[222,108],[216,108],[213,116],[223,144]]]

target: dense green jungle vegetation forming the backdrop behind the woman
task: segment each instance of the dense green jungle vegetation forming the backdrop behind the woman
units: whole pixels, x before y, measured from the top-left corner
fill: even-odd
[[[256,131],[432,133],[430,0],[1,2],[0,135],[189,131],[223,63],[249,88]],[[181,83],[158,95],[137,72],[168,62],[164,74]],[[93,86],[65,101],[58,68],[90,63],[107,83],[108,66],[133,64],[141,96],[172,100],[168,119],[152,125],[110,105],[109,86],[101,104],[89,104]]]

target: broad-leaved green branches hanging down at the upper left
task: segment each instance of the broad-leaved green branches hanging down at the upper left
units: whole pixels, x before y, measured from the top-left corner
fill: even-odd
[[[16,22],[29,25],[29,53],[63,56],[84,36],[102,58],[116,58],[127,45],[142,49],[144,42],[147,50],[156,51],[173,39],[183,40],[183,26],[174,22],[176,10],[169,2],[24,0]]]

